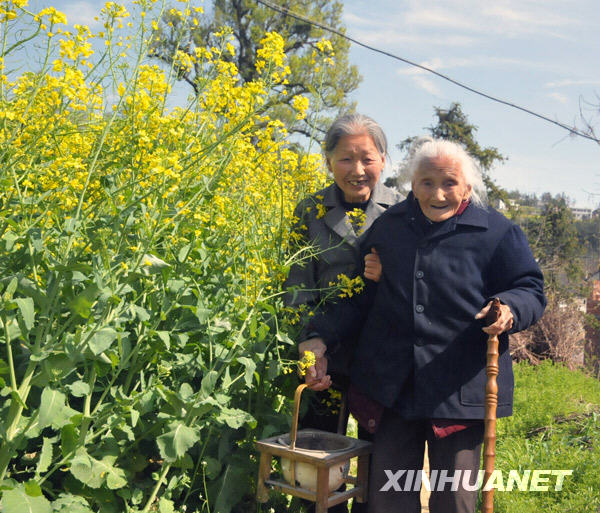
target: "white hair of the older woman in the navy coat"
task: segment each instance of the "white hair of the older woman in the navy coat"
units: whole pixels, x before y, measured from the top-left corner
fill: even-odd
[[[446,157],[456,163],[456,169],[460,169],[467,185],[471,186],[471,201],[474,205],[485,207],[487,205],[487,192],[483,183],[481,168],[471,155],[459,144],[446,139],[427,139],[422,138],[415,141],[418,147],[411,148],[410,161],[408,163],[408,174],[411,183],[415,174],[421,169],[423,164],[432,159]]]

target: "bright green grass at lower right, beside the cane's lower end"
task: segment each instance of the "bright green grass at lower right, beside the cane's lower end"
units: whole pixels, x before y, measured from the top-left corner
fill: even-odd
[[[496,492],[496,513],[598,513],[600,382],[545,362],[515,366],[514,415],[498,421],[496,468],[572,470],[562,490]]]

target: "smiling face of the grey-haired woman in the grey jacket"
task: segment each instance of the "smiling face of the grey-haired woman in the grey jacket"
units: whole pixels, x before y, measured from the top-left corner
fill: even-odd
[[[368,134],[340,137],[327,167],[349,203],[367,201],[383,170],[385,157]]]

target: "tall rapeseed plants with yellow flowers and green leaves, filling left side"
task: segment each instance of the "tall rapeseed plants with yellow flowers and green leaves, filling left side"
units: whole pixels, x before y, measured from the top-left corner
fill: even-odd
[[[147,55],[168,9],[107,2],[94,31],[0,3],[5,513],[228,511],[252,493],[252,440],[285,429],[298,314],[281,285],[322,158],[264,114],[289,74],[279,34],[254,82],[225,58],[227,29],[165,68]],[[200,13],[178,2],[170,16]],[[12,71],[35,48],[38,68]],[[170,107],[190,67],[198,94]]]

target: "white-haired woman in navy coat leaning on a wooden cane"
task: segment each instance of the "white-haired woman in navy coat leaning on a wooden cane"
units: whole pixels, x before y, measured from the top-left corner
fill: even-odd
[[[421,511],[425,441],[436,476],[430,512],[473,513],[487,335],[499,335],[497,414],[504,417],[512,414],[514,387],[508,333],[541,317],[543,276],[523,232],[486,206],[481,172],[459,145],[426,142],[409,166],[412,192],[373,223],[361,245],[379,254],[379,283],[315,317],[313,338],[300,349],[317,356],[307,374],[315,390],[329,386],[328,361],[354,353],[351,386],[366,399],[376,431],[370,513]],[[493,298],[499,312],[485,326]]]

